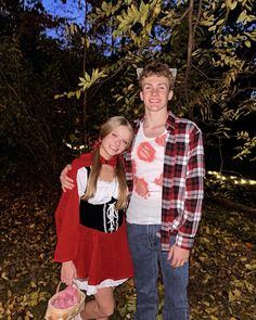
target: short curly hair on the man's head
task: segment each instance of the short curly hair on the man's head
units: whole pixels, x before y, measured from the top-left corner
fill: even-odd
[[[139,76],[139,84],[140,88],[142,89],[142,80],[144,78],[151,77],[151,76],[157,76],[157,77],[166,77],[169,80],[169,89],[172,90],[175,87],[175,77],[169,69],[167,64],[164,64],[162,62],[152,62],[148,64],[141,72]]]

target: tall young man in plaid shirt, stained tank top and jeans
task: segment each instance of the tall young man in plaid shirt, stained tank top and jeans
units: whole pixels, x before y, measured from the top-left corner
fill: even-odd
[[[188,320],[189,256],[203,201],[202,132],[194,123],[168,112],[174,78],[167,65],[146,65],[140,89],[144,115],[133,121],[136,138],[125,153],[130,192],[128,240],[137,290],[135,319],[156,319],[159,266],[164,320]],[[62,181],[69,188],[66,171]]]

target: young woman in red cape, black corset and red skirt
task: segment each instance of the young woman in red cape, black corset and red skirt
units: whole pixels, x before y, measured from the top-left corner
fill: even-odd
[[[133,276],[120,156],[133,131],[126,118],[116,116],[102,125],[99,136],[99,148],[73,162],[69,172],[75,188],[63,193],[55,213],[54,260],[62,263],[61,279],[94,295],[76,317],[85,320],[107,319],[114,311],[114,287]]]

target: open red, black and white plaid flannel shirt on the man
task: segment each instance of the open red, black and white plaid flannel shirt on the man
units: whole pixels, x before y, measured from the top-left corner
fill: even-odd
[[[133,121],[137,133],[141,118]],[[176,244],[190,249],[199,228],[204,195],[204,149],[202,132],[188,120],[169,112],[164,158],[162,230],[164,251],[169,249],[169,238],[176,234]],[[131,149],[125,155],[126,180],[131,194],[133,176]]]

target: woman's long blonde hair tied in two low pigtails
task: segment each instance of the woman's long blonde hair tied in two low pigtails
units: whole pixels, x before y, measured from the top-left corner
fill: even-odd
[[[99,133],[100,140],[104,139],[107,135],[110,135],[115,128],[119,126],[126,127],[131,132],[130,141],[127,144],[127,148],[128,148],[133,139],[133,129],[130,123],[123,116],[112,117],[101,126],[100,133]],[[91,171],[89,175],[89,180],[87,183],[87,190],[86,190],[86,194],[81,197],[81,200],[87,201],[88,199],[92,197],[95,194],[97,181],[100,176],[101,168],[102,168],[102,164],[100,162],[100,149],[98,148],[93,152],[92,166],[91,166]],[[118,181],[118,200],[116,203],[116,208],[120,209],[120,208],[124,208],[127,204],[127,184],[126,184],[124,161],[121,156],[118,156],[118,155],[117,155],[117,163],[115,167],[115,177],[117,178],[117,181]]]

